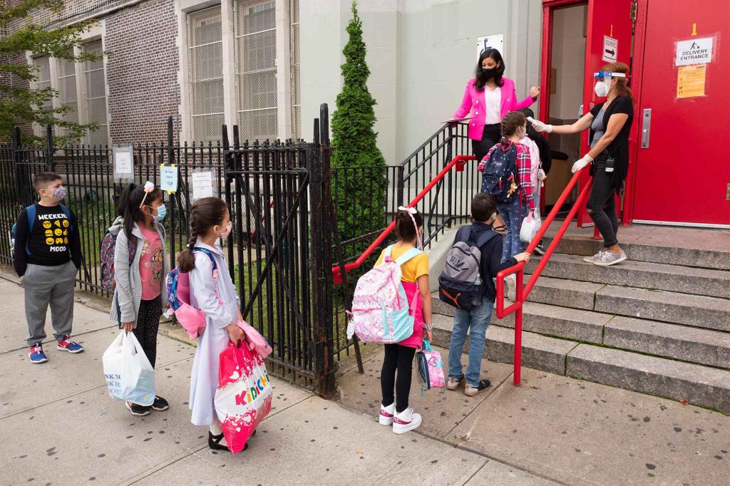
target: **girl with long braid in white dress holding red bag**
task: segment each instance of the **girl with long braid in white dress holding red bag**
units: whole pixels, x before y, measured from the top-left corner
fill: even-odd
[[[215,414],[218,387],[218,356],[243,337],[236,324],[243,320],[236,287],[228,274],[228,263],[217,243],[231,233],[231,216],[219,198],[202,198],[190,212],[190,240],[177,258],[177,268],[190,272],[191,304],[205,313],[205,329],[200,336],[190,380],[191,422],[208,426],[208,447],[228,450],[223,430]],[[215,261],[215,267],[213,262]],[[213,278],[213,271],[218,278]],[[244,450],[248,444],[244,447]]]

